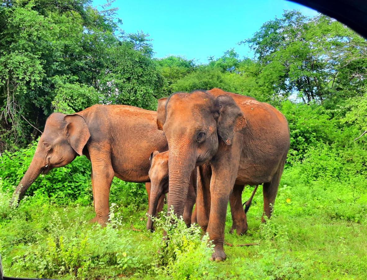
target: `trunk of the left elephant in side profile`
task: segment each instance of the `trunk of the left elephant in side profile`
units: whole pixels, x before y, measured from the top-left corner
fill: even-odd
[[[11,205],[18,206],[19,202],[23,198],[25,192],[33,184],[33,182],[38,178],[38,176],[43,171],[43,160],[39,157],[33,157],[32,162],[26,173],[24,174],[22,180],[19,182],[18,187],[15,189],[12,199]]]

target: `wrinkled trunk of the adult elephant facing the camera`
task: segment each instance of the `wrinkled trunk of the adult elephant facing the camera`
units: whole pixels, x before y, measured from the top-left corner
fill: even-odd
[[[195,153],[190,153],[190,150],[189,147],[169,149],[168,212],[173,206],[173,213],[178,217],[183,216],[191,174],[196,164],[196,158],[193,156]]]

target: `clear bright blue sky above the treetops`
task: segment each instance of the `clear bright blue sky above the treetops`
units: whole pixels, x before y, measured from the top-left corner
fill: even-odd
[[[93,0],[101,9],[105,0]],[[250,38],[260,26],[280,17],[283,10],[300,10],[314,16],[316,11],[286,0],[117,0],[118,17],[127,33],[143,31],[153,39],[155,57],[179,55],[206,63],[235,48],[241,57],[252,53],[238,42]]]

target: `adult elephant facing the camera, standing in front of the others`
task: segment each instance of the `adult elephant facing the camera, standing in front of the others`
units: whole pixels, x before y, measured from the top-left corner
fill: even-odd
[[[212,89],[160,99],[157,125],[169,148],[168,208],[172,205],[175,214],[182,215],[190,175],[199,166],[197,222],[215,245],[212,259],[223,260],[234,185],[264,184],[264,214],[272,213],[290,145],[287,120],[267,103]]]

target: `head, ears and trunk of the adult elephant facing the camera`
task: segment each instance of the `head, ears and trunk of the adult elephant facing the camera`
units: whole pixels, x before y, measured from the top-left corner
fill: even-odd
[[[232,145],[235,132],[245,123],[241,109],[227,94],[178,92],[159,100],[157,126],[164,131],[169,149],[168,209],[172,205],[182,215],[195,166],[215,157],[219,141]]]

